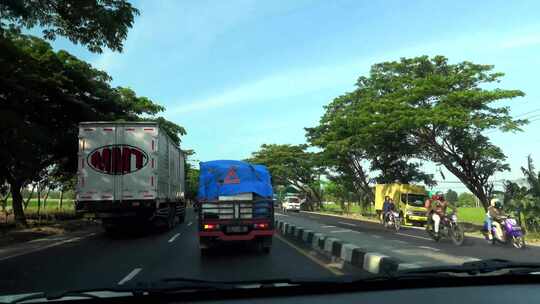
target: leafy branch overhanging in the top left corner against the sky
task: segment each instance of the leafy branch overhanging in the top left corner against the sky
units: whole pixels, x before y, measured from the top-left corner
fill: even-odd
[[[122,51],[138,14],[124,0],[8,0],[0,3],[0,37],[10,29],[38,26],[46,39],[59,35],[92,52]]]

